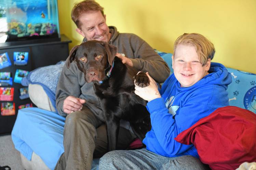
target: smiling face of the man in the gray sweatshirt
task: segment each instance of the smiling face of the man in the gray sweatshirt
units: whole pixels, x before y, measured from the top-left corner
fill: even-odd
[[[87,40],[105,41],[108,43],[111,34],[106,24],[106,15],[102,15],[100,11],[90,11],[81,14],[79,17],[81,28],[76,31]]]

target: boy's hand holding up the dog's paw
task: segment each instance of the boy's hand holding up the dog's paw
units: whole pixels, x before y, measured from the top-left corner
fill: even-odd
[[[139,72],[138,72],[139,73]],[[161,98],[161,95],[158,91],[158,85],[154,79],[152,79],[148,72],[146,72],[148,78],[149,78],[149,86],[147,87],[139,87],[135,83],[135,94],[138,95],[139,97],[143,98],[144,100],[151,101],[156,98]]]

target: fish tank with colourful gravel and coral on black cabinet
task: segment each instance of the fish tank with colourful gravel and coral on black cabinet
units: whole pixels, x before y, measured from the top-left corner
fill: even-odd
[[[59,40],[57,0],[0,0],[0,45]]]

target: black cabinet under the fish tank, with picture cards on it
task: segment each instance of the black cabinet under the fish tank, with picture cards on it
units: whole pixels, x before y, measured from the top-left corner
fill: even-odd
[[[0,54],[7,52],[12,63],[11,66],[0,69],[0,72],[11,72],[13,84],[9,86],[0,87],[14,87],[13,101],[0,101],[15,103],[15,115],[2,116],[0,115],[0,135],[9,134],[12,131],[15,123],[18,106],[31,103],[30,99],[19,98],[19,89],[23,86],[14,82],[14,75],[17,69],[31,71],[38,67],[56,64],[61,60],[66,60],[69,54],[68,43],[69,40],[65,35],[61,35],[60,41],[51,41],[47,43],[33,43],[33,44],[19,44],[19,45],[0,45]],[[24,66],[14,65],[13,52],[28,52],[28,63]],[[26,122],[24,122],[26,123]]]

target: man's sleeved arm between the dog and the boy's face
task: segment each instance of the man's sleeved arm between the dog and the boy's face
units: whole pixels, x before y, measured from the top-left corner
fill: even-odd
[[[148,72],[158,83],[164,82],[169,77],[170,68],[167,63],[137,35],[120,33],[113,45],[118,47],[119,53],[124,53],[130,58],[134,68]]]

